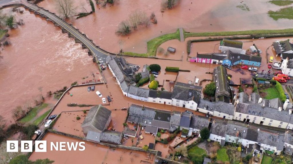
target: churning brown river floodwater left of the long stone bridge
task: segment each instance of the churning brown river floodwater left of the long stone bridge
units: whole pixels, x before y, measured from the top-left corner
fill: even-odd
[[[17,105],[34,106],[40,94],[45,97],[49,90],[69,87],[74,81],[82,83],[86,81],[83,77],[91,79],[92,72],[98,71],[87,50],[62,34],[52,22],[29,11],[13,14],[17,20],[23,19],[25,25],[9,31],[11,45],[1,52],[4,58],[0,60],[0,115],[8,125],[12,121],[11,111]],[[56,101],[46,99],[51,104]]]

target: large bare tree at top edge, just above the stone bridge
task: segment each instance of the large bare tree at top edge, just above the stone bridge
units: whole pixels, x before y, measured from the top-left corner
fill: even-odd
[[[69,18],[75,12],[72,0],[56,0],[56,8],[64,18]]]

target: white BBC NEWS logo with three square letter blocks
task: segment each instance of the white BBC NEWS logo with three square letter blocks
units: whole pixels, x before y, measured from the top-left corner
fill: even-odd
[[[50,151],[84,151],[84,145],[85,142],[50,142]],[[18,152],[18,141],[7,141],[7,152]],[[21,141],[21,152],[33,152],[33,141]],[[47,141],[35,141],[35,152],[47,152]]]

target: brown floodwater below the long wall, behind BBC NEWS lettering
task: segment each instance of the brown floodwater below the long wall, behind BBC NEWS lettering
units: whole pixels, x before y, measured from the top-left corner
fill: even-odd
[[[65,163],[141,163],[141,160],[151,163],[154,155],[148,159],[147,153],[126,149],[113,149],[107,146],[85,142],[86,149],[84,151],[50,151],[50,142],[84,142],[79,139],[65,137],[53,133],[47,133],[42,140],[47,141],[47,152],[33,152],[30,160],[49,158],[54,160],[54,164]]]

